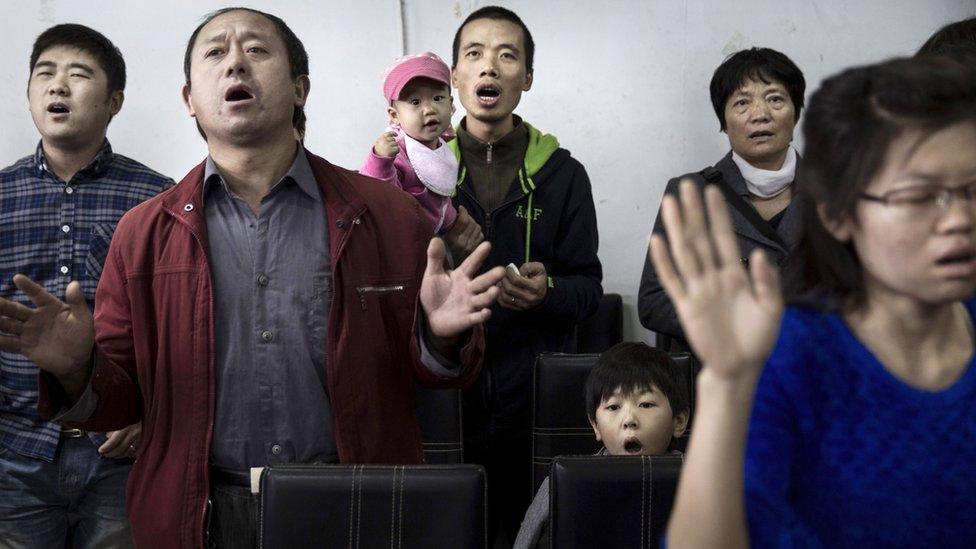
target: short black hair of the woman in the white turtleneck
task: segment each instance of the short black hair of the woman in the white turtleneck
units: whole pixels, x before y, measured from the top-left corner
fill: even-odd
[[[715,69],[708,89],[712,95],[712,107],[718,116],[719,128],[725,131],[725,104],[729,97],[747,80],[771,84],[782,82],[790,95],[795,110],[793,121],[800,119],[803,110],[803,93],[807,82],[803,72],[789,57],[769,48],[751,48],[733,53]]]

